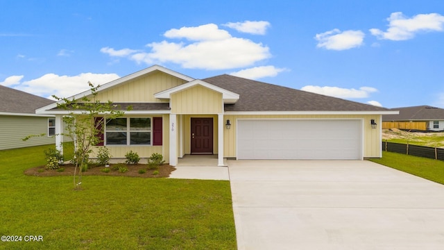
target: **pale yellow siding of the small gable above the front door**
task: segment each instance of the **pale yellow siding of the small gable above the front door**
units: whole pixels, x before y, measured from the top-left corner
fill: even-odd
[[[171,94],[171,113],[219,114],[222,113],[222,94],[196,85]]]

